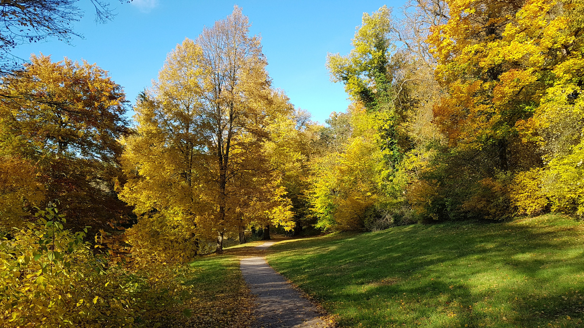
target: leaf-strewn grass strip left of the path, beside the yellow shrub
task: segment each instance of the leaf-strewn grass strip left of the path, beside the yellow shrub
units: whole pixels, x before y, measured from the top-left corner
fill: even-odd
[[[239,259],[229,254],[203,256],[190,264],[195,270],[185,280],[192,285],[187,302],[190,315],[184,327],[249,327],[252,296],[239,270]]]

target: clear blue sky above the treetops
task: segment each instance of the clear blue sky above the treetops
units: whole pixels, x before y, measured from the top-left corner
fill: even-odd
[[[84,39],[74,38],[68,46],[57,40],[24,44],[14,52],[23,58],[31,53],[53,55],[53,60],[67,56],[97,63],[124,86],[128,100],[157,78],[166,54],[185,37],[195,39],[203,26],[229,15],[237,4],[252,22],[251,32],[261,34],[267,69],[275,88],[283,89],[291,102],[310,111],[313,120],[324,123],[332,111],[346,109],[347,95],[342,84],[329,81],[325,68],[326,53],[346,54],[355,27],[363,12],[376,11],[383,5],[399,2],[359,1],[195,1],[134,0],[116,8],[113,22],[96,24],[88,0],[79,5],[85,17],[75,23],[75,31]]]

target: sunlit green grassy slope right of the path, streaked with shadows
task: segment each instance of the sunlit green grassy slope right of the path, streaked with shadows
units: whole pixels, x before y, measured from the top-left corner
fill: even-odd
[[[342,327],[583,327],[584,225],[411,225],[290,240],[276,270]]]

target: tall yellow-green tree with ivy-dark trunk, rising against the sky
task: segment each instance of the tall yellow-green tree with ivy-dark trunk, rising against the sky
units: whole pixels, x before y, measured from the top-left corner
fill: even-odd
[[[416,11],[408,9],[412,6]],[[387,6],[371,15],[364,13],[352,40],[353,50],[345,56],[327,56],[332,81],[345,84],[350,98],[375,117],[379,138],[384,140],[384,160],[393,171],[416,143],[410,125],[430,123],[424,105],[439,89],[433,78],[434,61],[424,42],[424,31],[432,24],[427,7],[436,9],[423,1],[408,4],[401,20]],[[416,117],[424,123],[414,122]]]

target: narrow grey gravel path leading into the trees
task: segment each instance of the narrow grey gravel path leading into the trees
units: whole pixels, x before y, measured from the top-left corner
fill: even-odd
[[[256,249],[265,250],[274,243],[276,242],[265,242],[256,246]],[[317,312],[315,306],[294,290],[284,277],[267,265],[263,257],[246,257],[241,260],[240,266],[252,294],[258,295],[253,328],[328,327],[319,318],[321,314]]]

